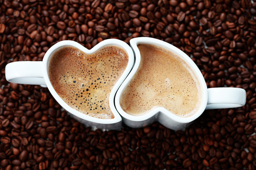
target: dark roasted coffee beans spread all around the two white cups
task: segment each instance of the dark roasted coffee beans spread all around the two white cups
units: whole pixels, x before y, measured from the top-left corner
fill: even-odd
[[[205,111],[184,132],[159,123],[91,130],[47,88],[5,80],[7,63],[42,61],[58,41],[91,49],[138,36],[186,52],[208,88],[244,88],[245,106]],[[255,170],[255,39],[251,0],[0,0],[0,168]]]

